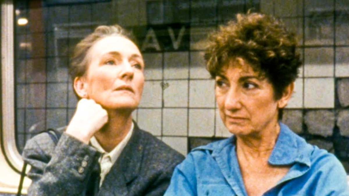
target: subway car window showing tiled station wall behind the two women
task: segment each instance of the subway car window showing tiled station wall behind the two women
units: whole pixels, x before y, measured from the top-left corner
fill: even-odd
[[[349,173],[347,0],[16,0],[2,6],[5,2],[13,3],[8,74],[14,76],[14,130],[4,130],[4,122],[1,129],[14,137],[17,157],[31,137],[68,125],[77,104],[69,58],[76,43],[102,24],[132,31],[143,54],[146,82],[133,112],[140,127],[184,155],[231,136],[220,119],[203,53],[209,33],[250,10],[281,18],[298,35],[303,66],[282,122],[335,154]],[[3,161],[18,173],[21,168],[11,160]]]

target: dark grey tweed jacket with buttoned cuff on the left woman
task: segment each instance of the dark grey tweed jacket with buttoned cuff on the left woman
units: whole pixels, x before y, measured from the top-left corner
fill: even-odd
[[[38,134],[26,143],[22,156],[31,165],[28,196],[159,196],[169,186],[174,167],[184,159],[136,123],[99,189],[93,176],[99,176],[101,153],[65,133],[57,145],[48,133]],[[91,187],[97,188],[91,192]]]

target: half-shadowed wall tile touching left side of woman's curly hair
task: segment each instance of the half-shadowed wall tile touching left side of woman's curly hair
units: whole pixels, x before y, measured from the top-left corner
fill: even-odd
[[[210,74],[206,70],[205,59],[203,59],[203,51],[194,51],[190,53],[190,78],[210,78]]]

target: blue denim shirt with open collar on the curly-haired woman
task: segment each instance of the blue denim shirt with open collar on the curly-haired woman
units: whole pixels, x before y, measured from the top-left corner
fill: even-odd
[[[286,125],[269,164],[292,165],[263,196],[349,196],[346,172],[326,150],[306,143]],[[193,149],[172,175],[165,196],[247,196],[235,152],[235,137]]]

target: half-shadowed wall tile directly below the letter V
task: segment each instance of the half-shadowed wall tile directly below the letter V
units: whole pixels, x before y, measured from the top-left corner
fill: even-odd
[[[187,79],[189,76],[189,52],[164,54],[164,79]]]

